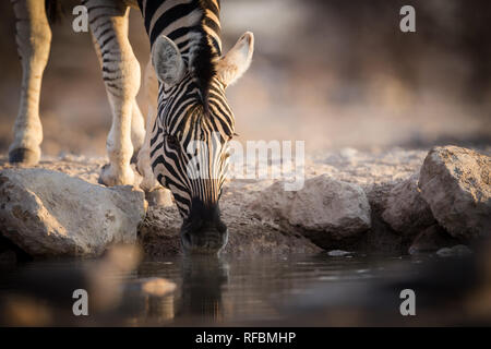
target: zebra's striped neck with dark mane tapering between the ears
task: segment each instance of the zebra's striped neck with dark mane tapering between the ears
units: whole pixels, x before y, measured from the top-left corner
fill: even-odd
[[[219,0],[139,0],[153,47],[158,36],[176,43],[207,109],[208,92],[221,56]]]

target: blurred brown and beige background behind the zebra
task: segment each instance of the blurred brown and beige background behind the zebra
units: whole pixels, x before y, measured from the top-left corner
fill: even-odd
[[[91,36],[71,28],[79,3],[64,0],[52,27],[46,155],[105,155],[110,109]],[[416,9],[416,33],[399,31],[405,4]],[[490,1],[223,0],[221,26],[224,51],[255,34],[252,67],[228,89],[241,141],[306,140],[308,152],[491,144]],[[20,96],[14,27],[1,1],[0,153]],[[136,10],[130,40],[143,69],[149,47]]]

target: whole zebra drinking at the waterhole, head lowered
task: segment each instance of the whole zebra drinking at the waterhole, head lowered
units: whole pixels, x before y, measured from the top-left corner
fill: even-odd
[[[58,0],[11,1],[23,80],[9,159],[34,165],[40,157],[39,93],[51,41],[47,12]],[[112,111],[109,164],[99,181],[169,189],[183,220],[184,252],[219,253],[228,229],[218,202],[227,172],[227,144],[236,135],[225,89],[249,69],[253,34],[246,32],[221,55],[219,0],[82,0],[82,4]],[[130,8],[142,12],[151,44],[144,72],[146,122],[135,101],[141,71],[128,40]],[[135,155],[141,183],[130,166]],[[196,158],[202,161],[190,166]]]

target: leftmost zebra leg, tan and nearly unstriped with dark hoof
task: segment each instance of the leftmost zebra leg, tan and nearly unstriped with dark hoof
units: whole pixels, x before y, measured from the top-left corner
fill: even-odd
[[[14,140],[9,161],[35,165],[40,158],[43,125],[39,120],[39,94],[43,73],[49,58],[51,28],[45,1],[12,0],[16,17],[16,43],[22,62],[22,87]]]

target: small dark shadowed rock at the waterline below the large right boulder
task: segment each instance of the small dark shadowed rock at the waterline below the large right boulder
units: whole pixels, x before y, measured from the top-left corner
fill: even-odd
[[[433,225],[421,231],[409,248],[409,254],[434,252],[442,248],[458,244],[458,240],[452,238],[445,229]]]

